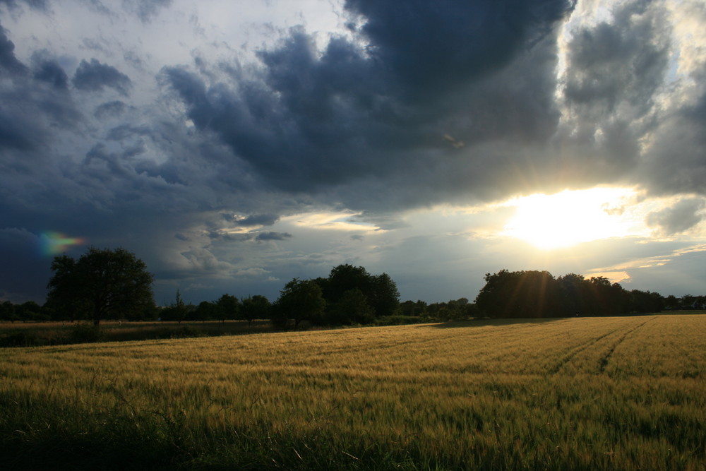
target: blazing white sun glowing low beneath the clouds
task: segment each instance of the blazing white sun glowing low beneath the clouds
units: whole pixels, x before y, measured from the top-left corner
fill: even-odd
[[[501,234],[542,250],[625,237],[631,231],[623,217],[624,205],[633,194],[631,189],[594,188],[515,198],[507,204],[517,210]]]

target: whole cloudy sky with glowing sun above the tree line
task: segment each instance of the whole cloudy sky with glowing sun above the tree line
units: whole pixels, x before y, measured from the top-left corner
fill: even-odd
[[[0,0],[0,299],[124,247],[155,300],[341,263],[706,293],[697,0]]]

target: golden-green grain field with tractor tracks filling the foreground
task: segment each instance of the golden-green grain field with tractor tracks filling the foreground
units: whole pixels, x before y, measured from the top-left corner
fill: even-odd
[[[706,316],[640,316],[4,349],[0,455],[15,470],[703,470],[704,332]]]

